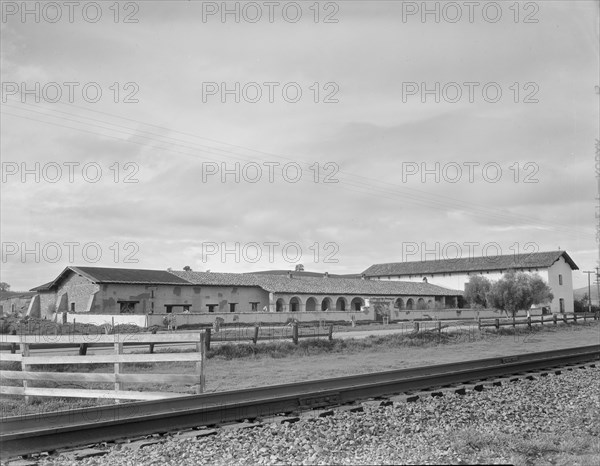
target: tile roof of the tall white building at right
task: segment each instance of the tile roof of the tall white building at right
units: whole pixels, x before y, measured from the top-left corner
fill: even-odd
[[[363,273],[367,277],[397,275],[429,275],[432,273],[481,272],[508,269],[529,269],[550,267],[563,257],[573,270],[579,267],[566,251],[536,252],[530,254],[509,254],[504,256],[469,257],[420,262],[393,262],[375,264]]]

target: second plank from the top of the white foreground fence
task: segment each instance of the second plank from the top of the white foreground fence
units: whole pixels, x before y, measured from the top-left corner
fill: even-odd
[[[136,362],[172,362],[199,361],[200,353],[153,353],[153,354],[92,354],[86,356],[29,356],[23,357],[23,363],[35,364],[114,364]]]

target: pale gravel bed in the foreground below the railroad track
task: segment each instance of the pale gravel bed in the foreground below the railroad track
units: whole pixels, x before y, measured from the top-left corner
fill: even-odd
[[[120,444],[104,456],[63,454],[40,464],[600,464],[599,375],[598,367],[563,369],[466,395],[365,403],[364,412]]]

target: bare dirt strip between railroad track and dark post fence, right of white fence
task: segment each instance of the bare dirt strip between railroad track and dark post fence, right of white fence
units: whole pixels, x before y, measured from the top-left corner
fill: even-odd
[[[445,364],[468,359],[535,353],[600,344],[600,324],[557,327],[521,335],[489,335],[478,341],[430,347],[405,347],[388,351],[319,354],[302,357],[209,359],[206,390],[237,390],[310,379],[342,377],[368,372]]]

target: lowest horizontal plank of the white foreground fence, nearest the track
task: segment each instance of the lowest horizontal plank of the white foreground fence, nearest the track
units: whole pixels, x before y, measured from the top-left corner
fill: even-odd
[[[38,388],[29,387],[27,391],[23,387],[0,387],[3,395],[26,395],[26,396],[49,396],[65,398],[109,398],[120,400],[162,400],[164,398],[179,398],[189,396],[189,393],[168,392],[138,392],[125,390],[115,392],[114,390],[78,390],[68,388]]]

